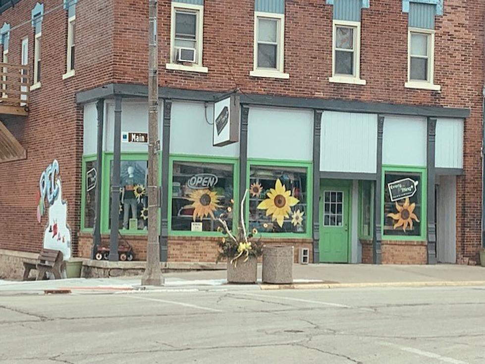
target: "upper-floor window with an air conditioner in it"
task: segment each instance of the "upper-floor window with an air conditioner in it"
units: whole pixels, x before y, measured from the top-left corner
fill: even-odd
[[[202,66],[204,6],[172,2],[170,63],[167,69],[208,72]]]

